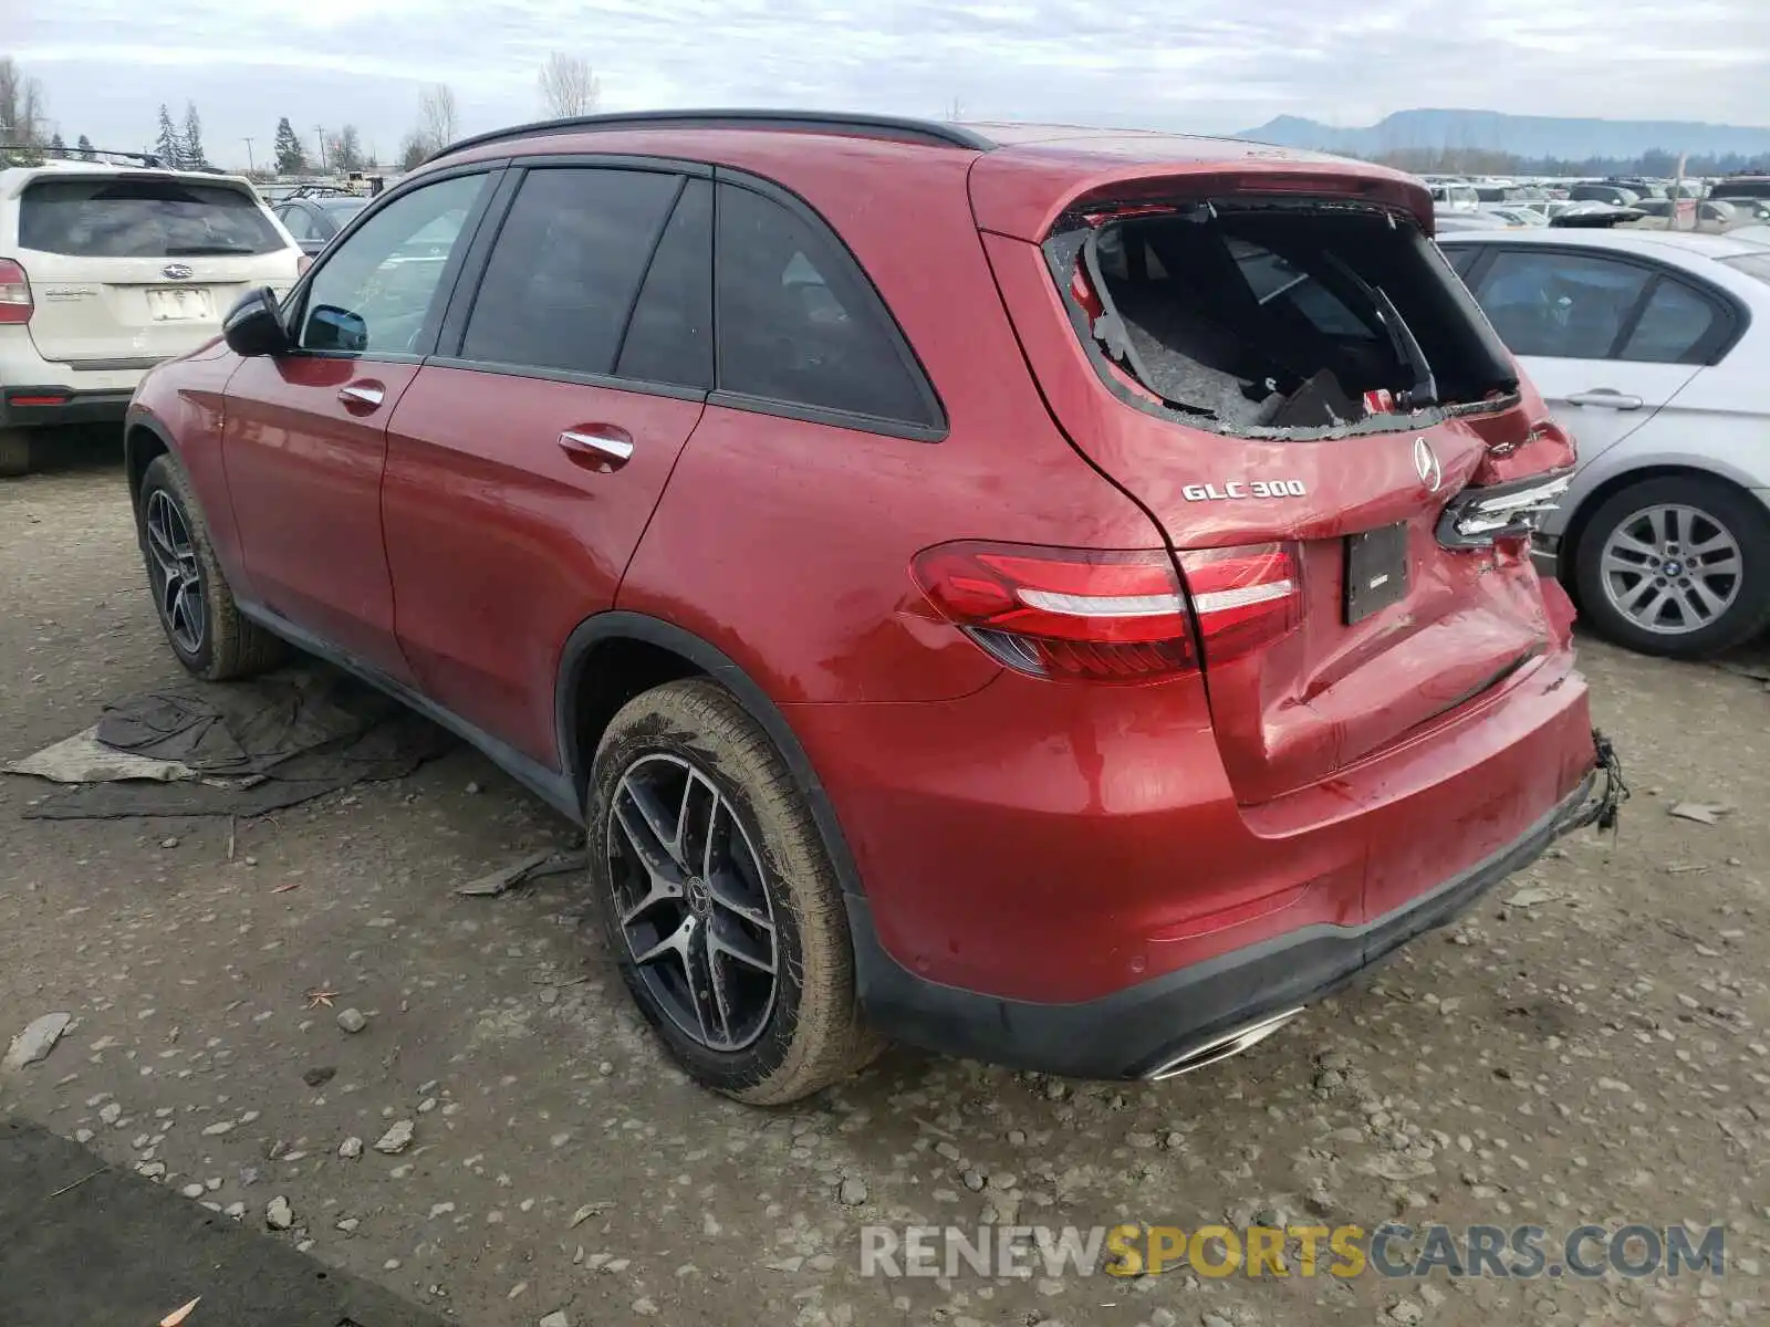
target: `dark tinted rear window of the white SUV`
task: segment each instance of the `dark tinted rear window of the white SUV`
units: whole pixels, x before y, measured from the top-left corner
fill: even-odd
[[[19,248],[80,258],[276,253],[285,241],[258,202],[225,184],[42,180],[25,189]]]

